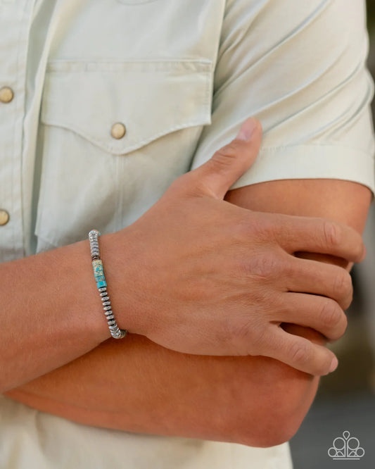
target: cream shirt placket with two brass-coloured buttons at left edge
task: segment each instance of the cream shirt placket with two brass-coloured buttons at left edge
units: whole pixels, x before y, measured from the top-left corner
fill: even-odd
[[[34,0],[0,0],[0,262],[24,256],[22,149]]]

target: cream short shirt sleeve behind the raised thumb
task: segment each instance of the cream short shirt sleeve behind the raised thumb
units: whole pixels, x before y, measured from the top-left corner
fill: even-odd
[[[374,192],[374,85],[362,0],[228,0],[212,98],[191,168],[255,115],[264,137],[231,188],[332,178]]]

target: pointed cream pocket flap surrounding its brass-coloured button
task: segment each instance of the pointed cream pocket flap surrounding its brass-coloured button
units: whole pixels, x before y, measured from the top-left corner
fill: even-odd
[[[211,69],[204,60],[49,63],[41,120],[127,154],[175,130],[211,123]],[[125,125],[121,138],[111,135],[115,123]]]

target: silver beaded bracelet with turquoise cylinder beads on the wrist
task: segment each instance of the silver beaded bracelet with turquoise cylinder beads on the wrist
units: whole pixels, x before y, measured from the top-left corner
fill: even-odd
[[[101,296],[103,303],[104,314],[108,321],[108,327],[113,339],[122,339],[127,334],[127,330],[120,329],[116,323],[115,316],[113,315],[112,306],[110,306],[110,299],[107,292],[106,277],[104,277],[103,262],[101,261],[98,237],[101,235],[98,230],[91,230],[89,232],[89,242],[91,250],[92,267],[94,268],[94,277],[96,287]]]

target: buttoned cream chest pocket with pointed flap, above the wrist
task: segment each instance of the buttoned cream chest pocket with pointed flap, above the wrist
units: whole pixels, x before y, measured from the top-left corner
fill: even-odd
[[[62,246],[132,223],[189,169],[210,123],[208,61],[58,62],[47,68],[35,234]]]

